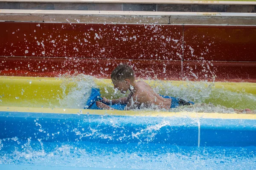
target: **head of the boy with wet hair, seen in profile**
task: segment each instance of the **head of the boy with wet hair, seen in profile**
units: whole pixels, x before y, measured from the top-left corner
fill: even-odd
[[[134,71],[128,65],[119,65],[112,71],[111,79],[114,88],[125,93],[127,90],[130,90],[131,84],[134,83]]]

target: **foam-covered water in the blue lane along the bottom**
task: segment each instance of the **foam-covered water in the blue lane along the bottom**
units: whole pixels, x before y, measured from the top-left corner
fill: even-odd
[[[0,151],[0,164],[138,170],[256,168],[255,147],[45,142],[42,148],[32,141],[21,148],[22,142],[9,144]]]

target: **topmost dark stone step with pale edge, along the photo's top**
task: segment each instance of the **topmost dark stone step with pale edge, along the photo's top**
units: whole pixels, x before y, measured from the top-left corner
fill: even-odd
[[[255,13],[256,1],[0,0],[0,9]]]

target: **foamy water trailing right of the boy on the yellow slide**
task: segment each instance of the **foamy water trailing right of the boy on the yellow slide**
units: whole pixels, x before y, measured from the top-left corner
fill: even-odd
[[[194,111],[199,111],[200,107],[204,108],[207,105],[212,107],[212,112],[221,111],[221,109],[223,109],[223,113],[232,112],[230,108],[250,108],[256,111],[256,105],[253,104],[256,102],[255,94],[244,91],[229,91],[225,88],[215,88],[214,82],[186,81],[180,85],[175,85],[172,82],[163,82],[161,87],[154,87],[154,91],[158,94],[205,104],[194,105],[198,107]],[[205,111],[210,112],[208,108]]]

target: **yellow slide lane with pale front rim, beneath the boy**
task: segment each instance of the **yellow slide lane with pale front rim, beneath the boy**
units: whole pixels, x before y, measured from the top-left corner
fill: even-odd
[[[81,80],[78,80],[81,81]],[[162,111],[102,111],[58,108],[60,99],[64,98],[72,88],[76,87],[78,81],[69,81],[65,78],[46,77],[0,77],[0,111],[19,111],[36,113],[72,113],[72,114],[113,114],[126,116],[192,116],[211,117],[223,119],[256,119],[256,115],[241,114],[218,114],[218,113],[188,113],[188,112],[162,112]],[[85,80],[86,81],[86,80]],[[108,96],[113,92],[113,85],[110,79],[94,78],[97,88],[100,88],[102,95]],[[186,82],[186,81],[158,81],[145,80],[151,87],[158,87],[165,90],[166,85],[172,87],[196,86],[224,89],[227,91],[248,93],[256,95],[256,83],[248,82]],[[88,87],[84,87],[88,88]],[[161,89],[162,88],[162,89]],[[217,114],[217,116],[216,116]]]

